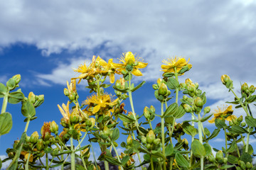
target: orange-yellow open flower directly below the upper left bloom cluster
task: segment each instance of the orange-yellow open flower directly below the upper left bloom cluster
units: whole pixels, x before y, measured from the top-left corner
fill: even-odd
[[[87,100],[85,100],[85,104],[94,106],[92,110],[92,114],[95,114],[98,111],[100,111],[101,108],[114,106],[115,104],[117,104],[118,100],[119,99],[117,98],[116,100],[112,101],[112,98],[109,94],[104,94],[101,96],[97,96],[96,94],[93,94],[91,97],[88,97]]]

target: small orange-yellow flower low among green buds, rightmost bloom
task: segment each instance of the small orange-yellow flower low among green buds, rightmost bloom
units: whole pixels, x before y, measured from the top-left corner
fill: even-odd
[[[235,115],[231,115],[233,113],[232,106],[223,106],[223,108],[218,107],[217,109],[214,110],[214,118],[212,120],[208,120],[209,123],[214,123],[215,119],[218,118],[220,120],[232,120]],[[225,115],[229,115],[227,118],[224,118]]]

